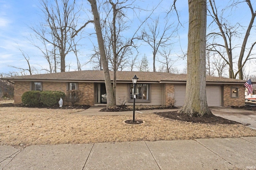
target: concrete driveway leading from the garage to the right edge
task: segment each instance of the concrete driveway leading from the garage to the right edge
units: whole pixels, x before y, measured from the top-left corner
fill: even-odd
[[[252,129],[256,129],[256,111],[234,109],[232,107],[210,107],[210,110],[216,116],[237,121]]]

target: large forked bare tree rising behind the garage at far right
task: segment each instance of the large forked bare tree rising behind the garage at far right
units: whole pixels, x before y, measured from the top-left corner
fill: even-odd
[[[229,66],[229,78],[236,78],[236,76],[239,74],[239,78],[243,79],[243,66],[244,64],[252,59],[252,49],[254,48],[254,45],[256,42],[252,43],[252,45],[247,46],[248,38],[250,36],[251,29],[254,24],[254,19],[256,16],[256,11],[254,11],[252,4],[250,0],[242,0],[242,1],[233,1],[233,3],[228,6],[228,8],[234,8],[240,3],[246,2],[248,5],[249,11],[251,13],[251,19],[250,23],[247,26],[246,33],[244,33],[244,37],[240,36],[240,32],[238,32],[238,29],[241,27],[239,23],[236,23],[235,25],[230,25],[228,23],[227,19],[223,17],[225,10],[228,8],[222,9],[222,12],[218,14],[218,7],[216,6],[215,0],[209,0],[210,2],[210,8],[208,9],[210,16],[213,18],[212,23],[216,23],[218,26],[219,32],[212,32],[208,35],[208,37],[214,39],[223,39],[224,43],[216,43],[215,41],[211,44],[210,49],[213,51],[216,51],[219,53],[219,55],[226,61],[226,63]],[[235,45],[234,39],[240,39],[242,41],[242,45],[239,44]],[[239,47],[240,46],[240,47]],[[240,48],[240,54],[238,55],[238,65],[237,65],[237,71],[234,70],[233,63],[235,59],[235,51],[234,49]],[[222,55],[221,51],[225,49],[226,55],[228,58],[225,58],[225,55]],[[247,53],[247,54],[245,54]]]

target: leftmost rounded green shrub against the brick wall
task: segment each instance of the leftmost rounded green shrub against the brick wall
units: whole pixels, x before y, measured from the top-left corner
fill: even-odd
[[[28,91],[22,94],[21,101],[28,106],[42,106],[40,102],[40,91]]]

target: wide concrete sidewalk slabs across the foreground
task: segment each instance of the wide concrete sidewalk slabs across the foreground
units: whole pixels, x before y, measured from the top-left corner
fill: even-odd
[[[1,170],[256,169],[256,137],[0,146]]]

